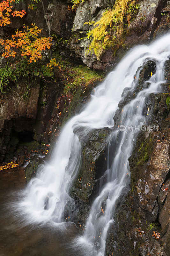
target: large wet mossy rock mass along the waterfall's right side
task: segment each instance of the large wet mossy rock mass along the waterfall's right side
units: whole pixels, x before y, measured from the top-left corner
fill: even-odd
[[[150,72],[154,72],[154,62],[149,62],[137,71],[141,90]],[[144,64],[146,65],[146,64]],[[165,77],[169,78],[169,60],[165,65]],[[139,80],[139,81],[140,81]],[[168,79],[167,79],[168,81]],[[166,93],[150,94],[146,99],[144,115],[146,126],[158,125],[158,130],[140,132],[136,138],[132,155],[129,157],[131,171],[130,191],[116,202],[114,226],[110,227],[107,237],[107,255],[169,255],[169,182],[170,182],[170,135],[169,107],[166,99],[169,97],[168,83],[162,85]],[[162,90],[162,91],[163,91]],[[133,98],[129,88],[122,94]],[[119,103],[122,108],[125,99]],[[149,107],[149,115],[148,114]],[[119,120],[120,110],[115,117]],[[115,118],[114,117],[114,118]],[[160,233],[156,239],[153,232]]]

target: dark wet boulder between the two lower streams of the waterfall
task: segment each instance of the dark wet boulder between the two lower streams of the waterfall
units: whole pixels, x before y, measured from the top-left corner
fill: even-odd
[[[86,136],[82,136],[81,129],[75,132],[82,145],[82,161],[70,194],[88,203],[99,189],[95,187],[93,191],[95,183],[107,169],[107,145],[111,130],[109,128],[94,129]]]

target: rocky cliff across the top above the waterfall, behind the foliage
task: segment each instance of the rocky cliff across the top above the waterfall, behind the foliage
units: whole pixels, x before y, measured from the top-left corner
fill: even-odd
[[[119,62],[122,56],[136,44],[147,44],[154,38],[161,36],[169,29],[169,1],[167,0],[138,0],[138,14],[130,25],[125,25],[125,38],[122,45],[114,46],[103,52],[100,60],[94,53],[86,55],[86,48],[90,40],[85,39],[87,31],[92,29],[91,25],[84,25],[86,21],[98,21],[102,13],[114,6],[114,0],[87,0],[72,10],[73,3],[70,0],[44,0],[44,6],[48,13],[51,34],[56,41],[58,50],[63,56],[69,56],[78,63],[84,63],[88,67],[96,69],[110,69]],[[47,28],[41,3],[35,11],[28,9],[29,1],[16,4],[18,10],[25,9],[27,14],[21,20],[13,18],[8,29],[13,31],[24,23],[29,25],[35,23],[43,28],[42,34],[47,36]],[[1,36],[5,31],[1,28]],[[83,38],[81,40],[81,38]]]

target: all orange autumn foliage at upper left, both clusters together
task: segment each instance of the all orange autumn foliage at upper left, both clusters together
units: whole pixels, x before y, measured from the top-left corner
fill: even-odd
[[[12,11],[11,3],[15,0],[6,0],[0,3],[0,26],[6,26],[11,23],[11,15],[22,18],[26,12],[25,10]],[[11,39],[0,39],[0,44],[4,46],[3,57],[16,57],[16,54],[22,58],[27,59],[29,63],[36,62],[42,59],[42,52],[51,48],[51,37],[38,37],[41,33],[41,29],[31,24],[31,28],[23,27],[23,31],[18,29],[15,34],[11,36]]]

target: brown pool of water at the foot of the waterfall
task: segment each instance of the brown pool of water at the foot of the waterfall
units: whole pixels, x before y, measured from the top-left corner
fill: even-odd
[[[26,186],[24,170],[0,173],[0,256],[83,256],[87,252],[74,223],[23,224],[13,212],[18,191]],[[88,247],[88,246],[87,246]]]

